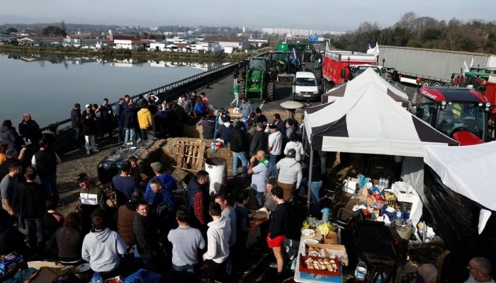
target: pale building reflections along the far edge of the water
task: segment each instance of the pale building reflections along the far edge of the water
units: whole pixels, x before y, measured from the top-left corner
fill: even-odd
[[[160,68],[176,68],[176,67],[189,67],[200,69],[202,71],[210,71],[212,69],[221,67],[230,63],[195,63],[195,62],[174,62],[162,60],[145,60],[145,59],[102,59],[98,57],[64,57],[60,55],[40,55],[40,54],[9,54],[9,59],[21,60],[23,62],[38,62],[40,67],[45,67],[45,63],[62,64],[66,69],[70,65],[82,65],[97,62],[98,64],[108,65],[111,67],[160,67]]]

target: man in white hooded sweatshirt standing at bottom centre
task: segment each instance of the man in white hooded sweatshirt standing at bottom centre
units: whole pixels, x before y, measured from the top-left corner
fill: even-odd
[[[205,277],[215,281],[224,273],[227,264],[231,226],[227,217],[222,215],[222,208],[218,203],[211,203],[208,212],[213,221],[208,224],[207,252],[203,254],[203,260],[207,265]]]

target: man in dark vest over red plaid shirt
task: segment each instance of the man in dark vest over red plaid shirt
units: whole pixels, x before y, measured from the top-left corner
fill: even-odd
[[[200,231],[206,231],[208,221],[208,172],[201,170],[188,183],[188,209],[190,209],[191,224]],[[202,233],[204,232],[202,231]]]

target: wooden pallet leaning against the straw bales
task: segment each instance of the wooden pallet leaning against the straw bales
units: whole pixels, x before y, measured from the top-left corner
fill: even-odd
[[[179,141],[178,145],[176,146],[176,167],[188,171],[200,171],[205,161],[205,144]]]

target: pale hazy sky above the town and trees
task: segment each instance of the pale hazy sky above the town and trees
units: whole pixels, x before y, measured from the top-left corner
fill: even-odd
[[[407,12],[437,19],[496,19],[461,0],[15,0],[2,1],[3,23],[230,25],[346,31],[363,21],[393,25]],[[485,6],[485,4],[480,4]]]

